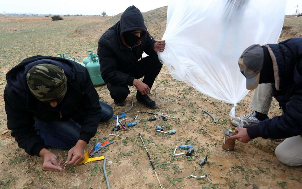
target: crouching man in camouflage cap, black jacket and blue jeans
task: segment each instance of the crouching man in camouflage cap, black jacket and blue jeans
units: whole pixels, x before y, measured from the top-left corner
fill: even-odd
[[[47,147],[69,149],[67,165],[84,159],[84,148],[101,121],[113,115],[99,101],[89,74],[80,64],[59,57],[34,56],[6,74],[7,126],[29,155],[44,158],[43,169],[64,172]]]

